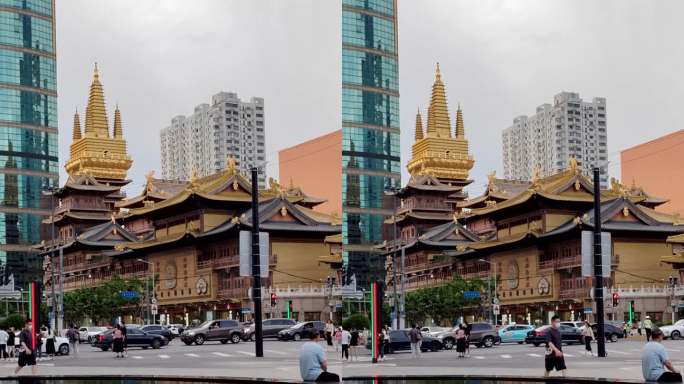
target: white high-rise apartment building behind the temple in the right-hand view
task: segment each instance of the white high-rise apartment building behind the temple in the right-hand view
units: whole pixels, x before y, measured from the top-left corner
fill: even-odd
[[[601,186],[608,185],[606,99],[583,101],[579,93],[561,92],[553,105],[542,104],[531,116],[518,116],[501,134],[504,177],[530,180],[535,169],[541,177],[568,167],[574,156],[591,177],[601,169]]]

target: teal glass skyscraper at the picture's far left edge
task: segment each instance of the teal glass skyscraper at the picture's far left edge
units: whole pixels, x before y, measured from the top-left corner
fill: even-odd
[[[31,245],[58,183],[54,0],[0,0],[0,283],[42,275]]]

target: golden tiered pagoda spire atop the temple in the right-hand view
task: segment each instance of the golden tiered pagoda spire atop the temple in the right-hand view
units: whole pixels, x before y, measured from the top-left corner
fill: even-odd
[[[443,180],[468,180],[474,160],[468,154],[465,139],[463,111],[456,114],[456,132],[452,134],[449,108],[439,64],[435,70],[430,105],[428,106],[427,132],[423,135],[420,113],[416,116],[416,142],[407,168],[414,175],[427,174]]]

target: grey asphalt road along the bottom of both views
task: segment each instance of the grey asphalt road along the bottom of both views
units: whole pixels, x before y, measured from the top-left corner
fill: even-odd
[[[263,377],[299,379],[298,354],[301,342],[266,341],[265,357],[257,359],[253,342],[220,344],[208,342],[201,346],[186,346],[174,340],[159,350],[132,348],[128,357],[117,359],[112,352],[81,344],[78,356],[41,360],[39,370],[44,374],[153,374]],[[640,340],[620,340],[608,343],[608,357],[584,355],[580,345],[565,346],[568,375],[641,379]],[[664,342],[675,367],[684,368],[684,341]],[[596,351],[596,345],[593,345]],[[409,353],[388,355],[372,364],[369,352],[361,350],[357,361],[340,359],[340,353],[327,347],[330,370],[344,377],[367,375],[533,375],[543,373],[543,347],[507,344],[493,348],[471,347],[471,356],[458,359],[455,351],[425,352],[420,359]],[[0,361],[0,373],[10,374],[15,362]],[[26,370],[24,374],[28,374]]]

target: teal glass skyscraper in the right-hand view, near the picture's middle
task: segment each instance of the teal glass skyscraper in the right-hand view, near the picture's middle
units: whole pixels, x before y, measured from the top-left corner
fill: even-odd
[[[345,278],[384,279],[384,190],[401,182],[396,0],[342,0],[342,237]]]

